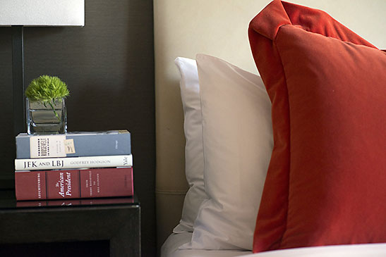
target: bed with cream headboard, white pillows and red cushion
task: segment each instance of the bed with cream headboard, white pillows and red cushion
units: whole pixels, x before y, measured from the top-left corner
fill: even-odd
[[[386,255],[385,2],[293,2],[154,1],[161,256]]]

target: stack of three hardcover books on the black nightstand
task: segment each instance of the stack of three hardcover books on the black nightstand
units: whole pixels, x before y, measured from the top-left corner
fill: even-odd
[[[127,130],[16,136],[16,199],[133,195]]]

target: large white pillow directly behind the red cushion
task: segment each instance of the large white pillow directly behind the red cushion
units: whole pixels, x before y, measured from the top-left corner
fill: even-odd
[[[191,243],[180,249],[252,249],[273,136],[258,75],[198,54],[205,192]]]

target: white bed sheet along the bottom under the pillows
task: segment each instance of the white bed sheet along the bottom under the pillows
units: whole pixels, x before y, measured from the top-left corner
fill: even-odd
[[[191,241],[192,233],[171,234],[161,249],[161,257],[386,257],[386,243],[316,246],[251,253],[251,251],[179,250]]]

